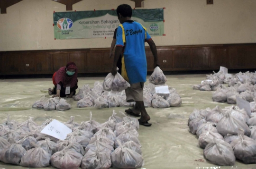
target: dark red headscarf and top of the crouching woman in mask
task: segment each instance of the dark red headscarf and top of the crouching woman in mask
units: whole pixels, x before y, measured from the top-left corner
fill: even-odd
[[[72,68],[75,69],[75,73],[72,76],[68,76],[66,71]],[[55,82],[56,84],[62,83],[64,88],[68,84],[70,84],[70,88],[73,88],[78,82],[77,73],[78,73],[78,69],[75,63],[69,62],[66,65],[66,67],[62,67],[56,72]]]

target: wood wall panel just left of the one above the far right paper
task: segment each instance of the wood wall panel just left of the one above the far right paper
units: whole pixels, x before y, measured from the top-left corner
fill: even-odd
[[[192,50],[192,68],[202,69],[209,68],[209,56],[207,49]]]

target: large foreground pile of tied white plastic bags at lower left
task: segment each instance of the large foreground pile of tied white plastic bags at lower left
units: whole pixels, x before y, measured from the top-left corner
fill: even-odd
[[[113,111],[102,124],[91,119],[91,112],[90,120],[81,124],[71,117],[64,124],[73,132],[65,140],[40,133],[51,119],[40,126],[33,118],[19,124],[8,117],[0,125],[0,161],[27,168],[141,168],[144,160],[138,140],[138,121],[122,112],[120,115]]]

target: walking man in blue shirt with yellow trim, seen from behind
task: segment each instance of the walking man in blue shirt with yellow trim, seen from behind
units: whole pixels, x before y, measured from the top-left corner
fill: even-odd
[[[112,75],[117,74],[117,62],[123,52],[122,58],[122,76],[127,80],[131,87],[125,90],[128,102],[136,102],[133,109],[126,110],[126,113],[140,117],[139,124],[143,126],[151,126],[150,120],[146,112],[143,102],[143,87],[146,82],[147,63],[145,42],[150,46],[154,56],[154,68],[158,65],[157,51],[154,41],[147,33],[146,28],[131,20],[132,8],[127,5],[119,5],[117,15],[121,25],[117,30],[117,41]]]

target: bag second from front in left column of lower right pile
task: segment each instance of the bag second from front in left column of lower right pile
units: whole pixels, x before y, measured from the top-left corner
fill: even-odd
[[[201,148],[205,148],[207,144],[209,144],[209,139],[218,138],[220,140],[224,140],[223,136],[219,133],[215,133],[212,131],[203,131],[199,136],[198,141]]]

